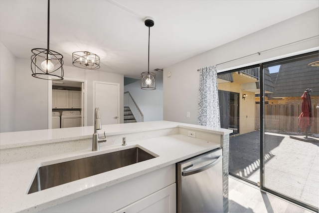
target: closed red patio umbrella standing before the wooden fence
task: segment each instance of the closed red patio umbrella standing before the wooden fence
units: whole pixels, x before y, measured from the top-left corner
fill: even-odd
[[[308,136],[308,128],[312,125],[312,107],[311,107],[311,97],[310,93],[311,89],[307,89],[304,94],[301,96],[303,99],[301,105],[302,113],[299,115],[299,127],[302,131],[306,131],[306,136]]]

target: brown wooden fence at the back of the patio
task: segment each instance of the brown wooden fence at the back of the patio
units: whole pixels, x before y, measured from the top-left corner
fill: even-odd
[[[319,134],[319,110],[313,104],[311,134]],[[265,104],[265,130],[300,132],[298,127],[301,104]],[[255,129],[260,129],[260,104],[255,104]]]

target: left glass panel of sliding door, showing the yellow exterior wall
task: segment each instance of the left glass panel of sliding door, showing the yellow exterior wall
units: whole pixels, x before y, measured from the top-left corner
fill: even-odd
[[[233,130],[229,145],[229,173],[257,185],[260,169],[259,67],[218,75],[221,127]],[[256,114],[257,113],[257,114]],[[257,120],[256,120],[257,116]]]

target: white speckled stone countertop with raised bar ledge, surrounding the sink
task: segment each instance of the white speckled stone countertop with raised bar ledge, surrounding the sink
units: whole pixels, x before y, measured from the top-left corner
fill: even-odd
[[[135,124],[104,125],[102,131],[106,135],[122,135],[127,133],[160,130],[167,128],[182,127],[190,130],[200,130],[217,135],[228,135],[231,131],[225,129],[214,129],[197,125],[181,124],[175,122],[158,121],[143,122]],[[66,131],[72,129],[72,131]],[[78,127],[60,129],[61,136],[54,136],[53,130],[38,130],[19,133],[14,139],[6,139],[8,134],[1,133],[1,149],[14,148],[18,146],[31,146],[39,143],[51,143],[57,141],[77,140],[92,137],[92,127]],[[102,132],[101,131],[101,132]],[[39,135],[35,135],[38,133]],[[13,134],[13,133],[12,133]],[[13,134],[14,135],[14,134]],[[26,137],[28,136],[28,137]],[[32,138],[34,138],[32,140]],[[14,143],[16,140],[17,143]],[[36,174],[37,168],[44,165],[75,160],[78,158],[100,155],[132,147],[142,147],[156,158],[137,164],[122,167],[81,180],[56,186],[40,192],[27,194],[31,182]],[[103,146],[100,151],[82,150],[70,153],[62,153],[36,159],[24,160],[14,163],[0,165],[0,213],[10,212],[38,212],[49,207],[79,198],[81,196],[96,192],[106,187],[127,181],[129,179],[153,172],[165,166],[175,164],[179,161],[191,158],[221,147],[220,142],[207,141],[199,138],[191,138],[182,134],[154,137],[143,140],[128,142],[127,146],[115,144]]]

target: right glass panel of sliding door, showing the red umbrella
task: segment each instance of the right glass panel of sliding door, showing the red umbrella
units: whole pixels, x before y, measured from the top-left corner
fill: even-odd
[[[264,99],[264,189],[319,206],[319,67],[301,56],[264,64],[275,92]]]

